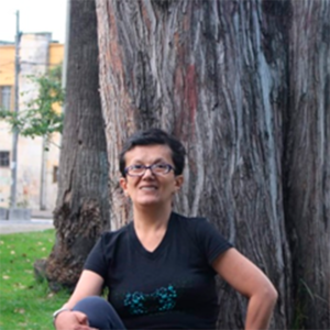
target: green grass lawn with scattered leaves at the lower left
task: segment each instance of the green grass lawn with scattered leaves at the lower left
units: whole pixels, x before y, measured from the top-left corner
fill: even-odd
[[[67,293],[52,293],[34,278],[33,263],[47,257],[54,230],[0,235],[0,330],[50,330]]]

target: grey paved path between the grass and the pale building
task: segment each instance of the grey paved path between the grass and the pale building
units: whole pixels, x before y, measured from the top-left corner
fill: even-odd
[[[54,228],[52,219],[0,220],[0,234],[41,231],[51,228]]]

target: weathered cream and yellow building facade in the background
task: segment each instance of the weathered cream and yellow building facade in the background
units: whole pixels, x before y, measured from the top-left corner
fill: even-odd
[[[31,76],[61,65],[64,45],[52,42],[51,33],[22,34],[19,48],[19,111],[35,99],[38,87]],[[0,42],[0,108],[14,110],[15,45]],[[58,109],[61,111],[61,109]],[[19,135],[16,162],[16,206],[53,210],[57,195],[61,135],[54,134],[48,150],[42,138]],[[0,120],[0,207],[9,207],[12,185],[13,134]]]

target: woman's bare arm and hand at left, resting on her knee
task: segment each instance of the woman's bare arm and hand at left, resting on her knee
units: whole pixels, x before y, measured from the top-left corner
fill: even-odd
[[[82,271],[73,295],[69,300],[63,305],[63,308],[67,308],[68,310],[58,314],[54,321],[56,330],[92,329],[88,327],[86,315],[79,311],[72,311],[70,309],[73,309],[74,306],[82,298],[99,296],[102,292],[103,282],[103,278],[97,273]]]

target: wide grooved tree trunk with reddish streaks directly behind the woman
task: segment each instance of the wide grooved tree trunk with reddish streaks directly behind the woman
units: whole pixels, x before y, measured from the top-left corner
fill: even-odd
[[[282,195],[288,107],[287,1],[97,0],[111,223],[128,220],[118,151],[161,127],[188,152],[176,209],[213,221],[273,280],[271,329],[288,329],[292,267]],[[246,300],[219,286],[219,329],[243,329]]]

